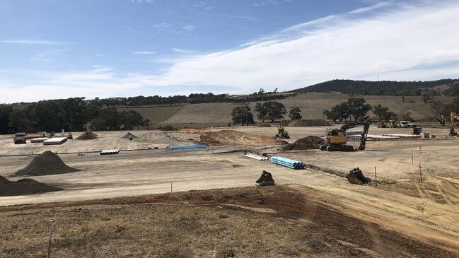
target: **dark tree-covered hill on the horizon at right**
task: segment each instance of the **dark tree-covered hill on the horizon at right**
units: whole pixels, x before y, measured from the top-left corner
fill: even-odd
[[[422,90],[429,90],[433,95],[447,93],[450,86],[458,84],[459,79],[438,81],[353,81],[333,80],[313,86],[291,90],[296,93],[339,92],[344,94],[369,95],[421,95]],[[446,92],[444,92],[446,90]],[[447,94],[446,94],[447,95]]]

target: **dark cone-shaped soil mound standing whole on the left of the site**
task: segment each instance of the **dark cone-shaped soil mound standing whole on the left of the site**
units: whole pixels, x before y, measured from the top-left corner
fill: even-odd
[[[27,167],[18,170],[16,175],[57,175],[76,171],[79,170],[65,165],[56,153],[45,151],[40,156],[33,158]]]

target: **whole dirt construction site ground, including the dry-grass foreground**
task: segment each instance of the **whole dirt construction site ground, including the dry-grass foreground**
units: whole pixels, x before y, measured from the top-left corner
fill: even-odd
[[[364,151],[284,151],[326,129],[286,127],[283,141],[277,127],[255,126],[131,131],[132,140],[74,132],[52,146],[2,135],[0,257],[46,257],[48,225],[53,257],[459,257],[459,138],[424,128],[429,138],[381,137]],[[207,147],[167,148],[197,144]],[[370,183],[350,184],[354,168]],[[255,187],[263,170],[274,186]],[[25,190],[2,192],[13,184]]]

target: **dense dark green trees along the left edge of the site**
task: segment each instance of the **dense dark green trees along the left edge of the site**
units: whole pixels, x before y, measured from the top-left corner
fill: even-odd
[[[83,98],[66,100],[44,100],[13,108],[0,105],[0,133],[18,131],[85,131],[133,129],[144,126],[149,120],[139,112],[128,110],[117,112],[114,108],[85,102]],[[90,128],[88,127],[90,124]]]

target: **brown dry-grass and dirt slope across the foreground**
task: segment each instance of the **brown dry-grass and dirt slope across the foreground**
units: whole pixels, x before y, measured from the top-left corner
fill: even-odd
[[[313,197],[274,186],[2,207],[0,254],[45,256],[52,217],[57,257],[457,257]]]

